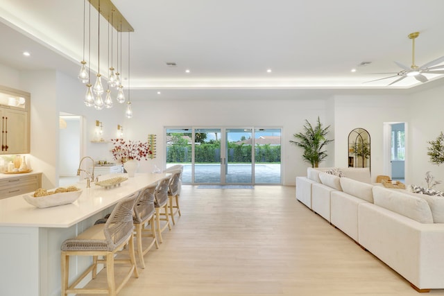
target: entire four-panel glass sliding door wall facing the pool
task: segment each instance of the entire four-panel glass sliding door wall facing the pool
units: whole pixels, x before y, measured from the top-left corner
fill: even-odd
[[[184,184],[281,184],[280,128],[167,128],[166,139]]]

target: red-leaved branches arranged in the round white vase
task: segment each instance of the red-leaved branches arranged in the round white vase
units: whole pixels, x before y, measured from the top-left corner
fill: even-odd
[[[114,147],[111,150],[112,157],[115,160],[120,160],[121,162],[126,162],[129,159],[135,160],[148,160],[150,155],[153,154],[151,145],[148,142],[141,141],[128,141],[124,139],[111,139]]]

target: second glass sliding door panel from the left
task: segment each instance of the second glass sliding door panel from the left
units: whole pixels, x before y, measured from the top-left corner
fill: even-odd
[[[194,183],[221,184],[221,129],[194,130]]]

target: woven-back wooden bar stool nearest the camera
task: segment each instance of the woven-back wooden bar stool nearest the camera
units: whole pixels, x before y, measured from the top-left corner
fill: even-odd
[[[133,194],[120,200],[112,210],[106,223],[96,224],[89,227],[85,232],[69,238],[62,243],[62,295],[78,293],[108,294],[115,296],[123,285],[130,279],[133,272],[139,277],[135,263],[133,243],[133,207],[139,194]],[[114,255],[128,244],[130,259],[114,259]],[[83,272],[70,286],[69,279],[69,256],[92,256],[92,265]],[[103,259],[98,259],[103,256]],[[114,279],[114,262],[130,263],[130,270],[121,284],[116,287]],[[103,263],[106,268],[108,288],[76,288],[89,272],[92,279],[97,275],[97,264]]]

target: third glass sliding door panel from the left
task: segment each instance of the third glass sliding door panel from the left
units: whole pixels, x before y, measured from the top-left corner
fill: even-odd
[[[252,128],[225,129],[225,183],[253,184]]]

